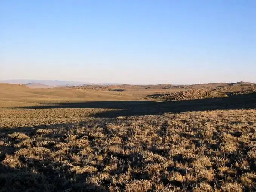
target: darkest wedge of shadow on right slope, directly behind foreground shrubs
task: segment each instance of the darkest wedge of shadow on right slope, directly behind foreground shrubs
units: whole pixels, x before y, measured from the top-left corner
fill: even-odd
[[[118,116],[157,115],[167,112],[181,113],[230,109],[256,109],[256,93],[222,98],[155,102],[140,105],[137,108],[104,111],[94,115],[94,117],[113,118]]]

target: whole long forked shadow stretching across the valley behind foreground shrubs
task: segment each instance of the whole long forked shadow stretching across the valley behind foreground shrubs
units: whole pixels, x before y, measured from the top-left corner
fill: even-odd
[[[51,103],[44,106],[25,107],[23,109],[53,108],[104,108],[117,109],[100,112],[93,117],[114,118],[118,116],[157,115],[166,112],[180,113],[188,111],[209,111],[228,109],[256,109],[256,93],[234,95],[221,98],[207,98],[185,101],[90,101],[80,103]]]

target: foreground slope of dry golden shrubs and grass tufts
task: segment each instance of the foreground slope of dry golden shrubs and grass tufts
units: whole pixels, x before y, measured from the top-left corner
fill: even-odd
[[[216,110],[5,129],[1,190],[254,191],[255,120]]]

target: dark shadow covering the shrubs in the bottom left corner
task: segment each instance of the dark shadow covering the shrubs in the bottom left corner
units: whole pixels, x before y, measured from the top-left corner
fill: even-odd
[[[51,174],[41,172],[35,173],[31,167],[17,169],[0,164],[0,191],[36,191],[36,192],[107,192],[108,190],[88,184],[84,180],[86,177],[77,174],[76,178],[72,175],[61,174],[54,169],[48,170]],[[54,178],[54,179],[53,179]],[[76,181],[79,180],[79,181]],[[82,181],[83,180],[83,181]]]

